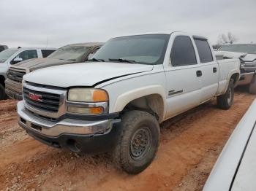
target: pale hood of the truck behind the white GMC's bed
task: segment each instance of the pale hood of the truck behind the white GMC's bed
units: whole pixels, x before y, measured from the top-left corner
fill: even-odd
[[[216,51],[217,55],[223,55],[227,58],[240,58],[243,61],[252,62],[255,61],[256,55],[247,54],[246,52],[227,52],[227,51]]]

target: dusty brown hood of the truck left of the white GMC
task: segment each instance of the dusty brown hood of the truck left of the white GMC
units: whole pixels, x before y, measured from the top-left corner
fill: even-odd
[[[37,69],[43,69],[50,66],[59,66],[67,63],[74,63],[74,61],[64,61],[53,58],[34,58],[15,64],[19,68],[29,69],[29,71],[35,71]]]

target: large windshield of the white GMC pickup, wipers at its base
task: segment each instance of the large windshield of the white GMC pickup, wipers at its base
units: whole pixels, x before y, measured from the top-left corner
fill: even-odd
[[[98,61],[161,64],[170,34],[124,36],[110,39],[93,56]]]

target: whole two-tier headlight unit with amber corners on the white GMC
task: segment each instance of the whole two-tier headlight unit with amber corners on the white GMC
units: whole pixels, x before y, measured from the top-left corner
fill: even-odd
[[[103,114],[108,112],[108,93],[94,88],[72,88],[68,93],[67,110],[76,114]]]

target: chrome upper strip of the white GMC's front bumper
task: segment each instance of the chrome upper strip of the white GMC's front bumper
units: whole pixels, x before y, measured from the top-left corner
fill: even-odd
[[[62,133],[91,135],[108,132],[113,126],[112,120],[85,121],[64,119],[60,122],[43,120],[42,118],[26,112],[26,108],[23,103],[24,101],[19,101],[17,104],[19,125],[42,135],[60,136]],[[23,119],[22,121],[20,120],[20,117]],[[25,123],[24,120],[26,121]],[[38,125],[42,130],[32,128],[32,124]]]

